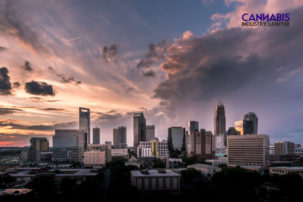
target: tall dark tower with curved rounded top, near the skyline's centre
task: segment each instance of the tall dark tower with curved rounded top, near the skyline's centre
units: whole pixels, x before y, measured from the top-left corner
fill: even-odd
[[[137,152],[138,144],[146,141],[146,120],[143,113],[135,113],[134,119],[134,151]]]

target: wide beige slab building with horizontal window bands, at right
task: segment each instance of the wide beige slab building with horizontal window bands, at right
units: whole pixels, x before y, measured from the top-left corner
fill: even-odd
[[[227,164],[267,166],[269,159],[268,135],[229,135],[227,137]]]

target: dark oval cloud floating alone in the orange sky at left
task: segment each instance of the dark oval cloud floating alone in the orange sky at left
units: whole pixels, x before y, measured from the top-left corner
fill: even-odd
[[[56,91],[53,89],[52,85],[48,85],[47,83],[41,81],[30,81],[25,83],[24,90],[33,95],[54,96],[56,94]]]

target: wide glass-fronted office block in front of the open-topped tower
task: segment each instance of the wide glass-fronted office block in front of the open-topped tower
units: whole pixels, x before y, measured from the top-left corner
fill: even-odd
[[[55,130],[53,160],[57,162],[83,162],[87,150],[88,134],[84,130]]]

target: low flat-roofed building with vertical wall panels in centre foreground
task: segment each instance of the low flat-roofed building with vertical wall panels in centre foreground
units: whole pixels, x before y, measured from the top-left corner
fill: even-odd
[[[143,194],[160,191],[180,195],[180,177],[169,170],[131,171],[131,186]]]

